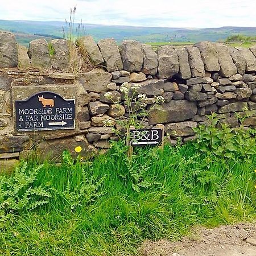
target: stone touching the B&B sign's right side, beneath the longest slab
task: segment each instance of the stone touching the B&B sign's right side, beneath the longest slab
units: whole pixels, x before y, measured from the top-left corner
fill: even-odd
[[[164,125],[164,131],[171,137],[191,136],[195,135],[192,128],[197,127],[197,122],[185,121],[179,123],[167,123]]]

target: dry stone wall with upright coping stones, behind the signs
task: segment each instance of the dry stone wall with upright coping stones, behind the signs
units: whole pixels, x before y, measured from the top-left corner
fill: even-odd
[[[24,49],[12,34],[0,32],[1,159],[23,157],[35,149],[42,158],[58,161],[63,150],[74,152],[76,146],[83,148],[84,156],[108,148],[108,141],[117,137],[112,127],[104,126],[105,119],[125,134],[118,122],[129,116],[120,90],[125,82],[128,88],[139,85],[137,95],[146,94],[144,109],[150,109],[156,97],[164,98],[143,124],[163,123],[172,144],[178,138],[193,139],[192,128],[207,124],[205,115],[212,112],[231,127],[238,126],[237,113],[246,115],[245,126],[256,126],[255,46],[201,42],[179,49],[162,46],[155,52],[133,40],[117,46],[113,39],[96,44],[86,36],[80,43],[96,68],[73,74],[67,40],[34,40]],[[17,131],[15,101],[46,91],[75,100],[75,129]]]

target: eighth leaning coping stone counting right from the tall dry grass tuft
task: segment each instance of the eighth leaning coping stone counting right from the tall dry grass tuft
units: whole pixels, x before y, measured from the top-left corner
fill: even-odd
[[[220,71],[220,64],[218,63],[218,52],[216,51],[216,43],[200,42],[194,44],[194,47],[199,48],[205,71]]]

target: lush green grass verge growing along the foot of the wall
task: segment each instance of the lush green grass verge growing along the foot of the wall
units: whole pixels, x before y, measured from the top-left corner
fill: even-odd
[[[6,218],[1,255],[138,255],[147,239],[255,219],[255,155],[226,161],[189,143],[135,150],[129,160],[125,150],[116,143],[93,162],[44,163],[32,187],[47,185],[52,198]]]

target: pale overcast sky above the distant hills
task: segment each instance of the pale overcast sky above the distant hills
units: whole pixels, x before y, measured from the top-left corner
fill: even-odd
[[[0,19],[162,27],[256,27],[255,0],[0,0]]]

